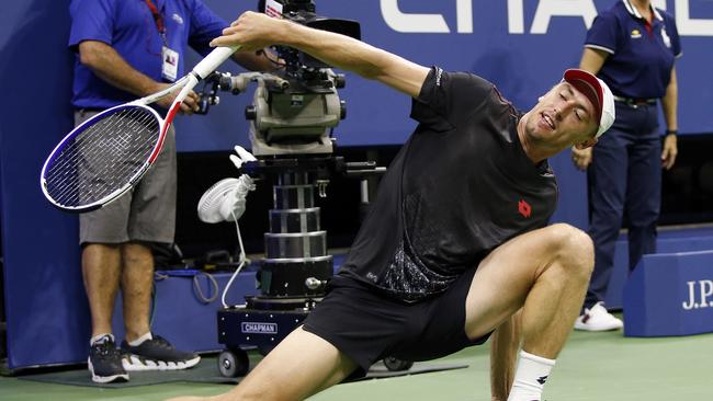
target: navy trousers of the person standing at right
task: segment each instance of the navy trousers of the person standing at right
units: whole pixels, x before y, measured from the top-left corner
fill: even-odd
[[[585,307],[604,299],[613,267],[614,244],[624,213],[629,221],[629,270],[645,253],[656,252],[661,199],[661,141],[657,105],[616,102],[616,121],[592,151],[588,170],[595,242],[595,272]]]

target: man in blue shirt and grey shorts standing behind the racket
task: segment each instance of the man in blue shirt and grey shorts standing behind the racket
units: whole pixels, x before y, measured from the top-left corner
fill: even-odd
[[[70,13],[69,47],[78,56],[72,98],[76,124],[170,85],[184,75],[186,45],[207,55],[208,42],[227,26],[201,0],[73,0]],[[249,69],[270,67],[258,53],[236,54],[234,59]],[[158,108],[168,107],[172,98],[159,101]],[[191,93],[181,111],[192,114],[196,100]],[[88,363],[93,381],[127,380],[126,370],[183,369],[199,363],[197,355],[176,350],[149,326],[150,244],[173,242],[174,219],[171,128],[155,167],[135,190],[80,216],[82,273],[92,316]],[[111,326],[120,283],[126,328],[123,353],[115,346]]]

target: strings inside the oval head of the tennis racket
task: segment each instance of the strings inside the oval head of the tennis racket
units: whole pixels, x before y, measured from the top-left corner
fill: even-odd
[[[69,139],[46,173],[47,192],[63,206],[89,205],[139,174],[160,136],[160,124],[139,106],[98,116]]]

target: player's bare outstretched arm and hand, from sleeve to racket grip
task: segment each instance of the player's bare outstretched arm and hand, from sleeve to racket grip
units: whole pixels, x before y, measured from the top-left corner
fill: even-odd
[[[294,47],[328,65],[383,82],[412,98],[418,96],[429,72],[423,66],[351,37],[251,11],[234,21],[211,45],[241,45],[241,51],[270,45]]]

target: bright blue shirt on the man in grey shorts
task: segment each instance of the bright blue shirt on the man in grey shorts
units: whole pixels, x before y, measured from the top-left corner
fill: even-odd
[[[208,43],[228,24],[201,0],[152,0],[163,18],[166,43],[180,54],[177,77],[184,72],[186,44],[202,55]],[[161,47],[154,14],[146,0],[72,0],[69,47],[77,51],[82,41],[111,45],[132,67],[156,81],[161,79]],[[72,104],[77,108],[106,108],[136,99],[75,60]]]

